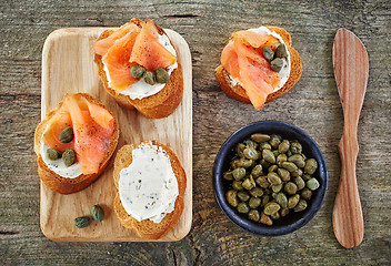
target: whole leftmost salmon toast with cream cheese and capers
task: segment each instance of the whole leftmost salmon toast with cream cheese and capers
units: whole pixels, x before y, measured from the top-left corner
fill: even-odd
[[[88,93],[67,94],[34,133],[38,174],[60,194],[79,192],[104,171],[119,136],[114,115]]]

